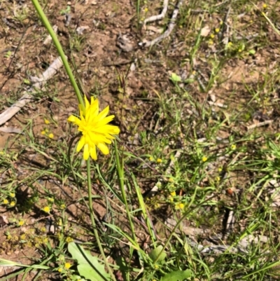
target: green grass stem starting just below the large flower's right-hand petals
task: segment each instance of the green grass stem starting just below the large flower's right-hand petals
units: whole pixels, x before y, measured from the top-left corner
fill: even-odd
[[[122,193],[123,203],[125,204],[125,211],[127,212],[127,218],[128,218],[128,221],[130,222],[130,228],[131,228],[131,231],[132,231],[133,240],[134,240],[134,242],[137,243],[137,238],[136,238],[135,231],[134,231],[134,224],[132,222],[132,217],[131,217],[131,214],[130,214],[130,208],[127,205],[127,196],[126,196],[126,193],[125,193],[123,165],[120,165],[120,157],[118,156],[116,139],[115,139],[114,144],[115,144],[115,156],[116,156],[116,165],[117,165],[117,173],[118,173],[118,183],[120,185],[120,191]],[[138,243],[137,243],[137,245],[138,245]]]

